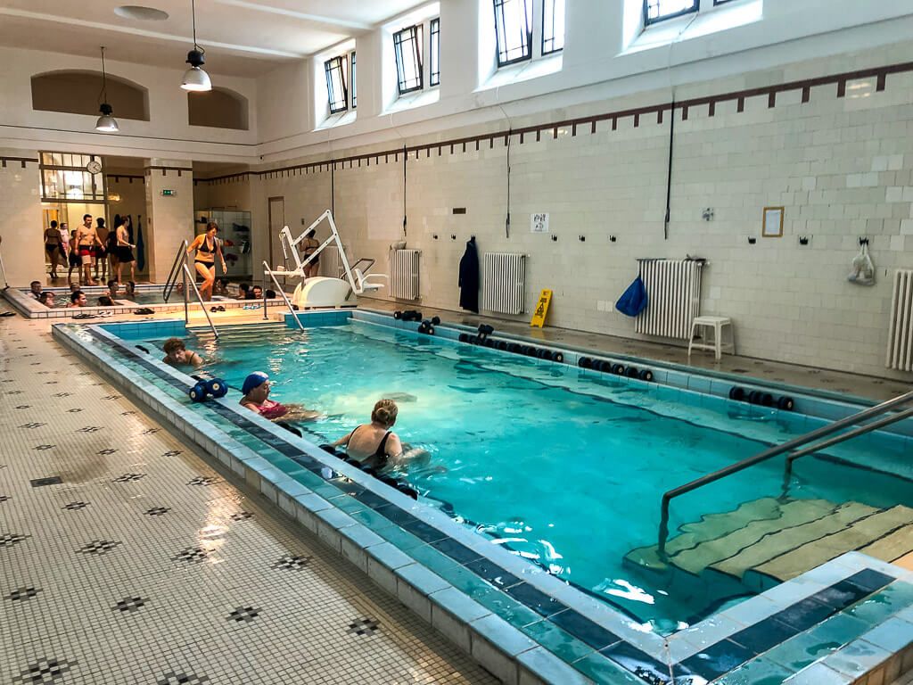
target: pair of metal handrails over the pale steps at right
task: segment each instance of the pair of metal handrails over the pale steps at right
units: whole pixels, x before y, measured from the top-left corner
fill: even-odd
[[[905,405],[909,405],[913,402],[913,391],[905,393],[904,395],[897,395],[893,399],[887,400],[887,402],[882,402],[880,405],[871,406],[868,409],[864,409],[861,412],[857,412],[851,416],[845,416],[833,423],[828,424],[817,428],[809,433],[806,433],[803,436],[793,437],[792,440],[782,443],[776,447],[765,449],[764,451],[754,455],[753,457],[742,459],[737,461],[735,464],[730,464],[727,467],[709,473],[706,476],[701,476],[698,479],[694,479],[685,485],[680,485],[679,487],[668,490],[666,494],[663,495],[662,503],[662,512],[659,519],[659,555],[660,558],[666,556],[666,541],[669,537],[669,502],[679,495],[684,495],[687,492],[693,490],[698,490],[705,485],[714,483],[719,479],[724,479],[727,476],[731,476],[734,473],[738,473],[744,469],[748,469],[755,464],[760,464],[763,461],[768,459],[779,457],[782,454],[790,452],[786,457],[786,467],[783,471],[783,485],[782,485],[782,494],[781,498],[785,498],[787,490],[789,490],[790,480],[792,479],[792,462],[796,459],[804,457],[805,455],[812,454],[813,452],[820,451],[824,448],[833,447],[845,440],[849,440],[853,437],[865,435],[870,433],[873,430],[878,428],[883,428],[890,426],[891,424],[897,423],[897,421],[903,421],[905,418],[913,416],[913,407],[908,406],[903,408]],[[899,410],[894,414],[889,414],[883,416],[892,410]],[[866,419],[874,418],[876,416],[882,416],[876,421],[870,423],[859,425],[860,422],[865,421]],[[847,430],[845,433],[834,437],[834,433],[837,431],[843,430],[844,428],[853,427],[851,430]],[[827,437],[828,439],[822,440],[821,442],[815,442],[816,440]],[[813,443],[809,445],[809,443]],[[807,446],[807,447],[804,447]],[[801,449],[800,449],[801,448]],[[795,451],[793,451],[795,450]]]

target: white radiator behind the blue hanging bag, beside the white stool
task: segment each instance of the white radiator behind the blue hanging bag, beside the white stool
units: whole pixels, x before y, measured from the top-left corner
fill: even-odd
[[[636,319],[636,332],[687,340],[691,322],[700,315],[702,266],[692,259],[641,259],[647,304]]]

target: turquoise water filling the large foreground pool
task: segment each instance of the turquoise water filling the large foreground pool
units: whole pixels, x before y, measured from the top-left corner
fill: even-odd
[[[713,411],[696,406],[699,395],[666,400],[656,386],[357,321],[225,332],[218,342],[199,333],[188,348],[229,385],[266,371],[274,399],[320,409],[326,417],[306,426],[315,442],[345,435],[369,420],[376,400],[396,398],[394,430],[431,455],[405,473],[423,495],[664,632],[727,597],[713,587],[673,596],[623,566],[625,553],[656,543],[662,493],[808,429],[802,416]],[[875,441],[844,449],[855,458],[903,458]],[[857,490],[860,481],[839,470],[830,466],[816,486],[800,481],[791,494],[859,500],[847,483]],[[681,498],[672,526],[779,494],[781,477],[782,461],[772,460]]]

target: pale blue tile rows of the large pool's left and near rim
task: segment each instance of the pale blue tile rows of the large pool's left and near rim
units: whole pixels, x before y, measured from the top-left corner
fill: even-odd
[[[169,323],[171,322],[169,321]],[[220,433],[221,436],[218,440],[213,440],[212,437],[205,435],[189,423],[185,423],[184,426],[179,425],[178,418],[182,416],[183,412],[183,407],[180,403],[162,394],[156,395],[153,392],[148,392],[146,386],[149,384],[147,381],[144,381],[129,368],[113,357],[110,357],[107,353],[100,354],[99,351],[94,348],[89,350],[89,348],[85,347],[79,338],[70,332],[68,328],[72,328],[72,324],[69,326],[54,326],[52,328],[54,337],[58,342],[64,343],[68,348],[78,353],[79,356],[89,362],[93,368],[101,374],[109,376],[111,380],[114,380],[115,382],[126,380],[127,384],[123,388],[125,393],[133,395],[140,404],[148,406],[157,416],[163,418],[163,423],[166,425],[183,430],[186,437],[202,448],[205,453],[211,454],[217,458],[223,466],[232,469],[232,471],[239,476],[244,476],[247,482],[257,485],[257,489],[282,511],[285,511],[286,513],[295,511],[295,517],[299,522],[309,528],[309,530],[317,532],[321,539],[323,539],[325,543],[331,544],[337,553],[341,553],[349,561],[362,568],[362,570],[366,570],[369,575],[372,575],[373,580],[378,583],[378,585],[393,592],[393,594],[400,598],[404,604],[413,608],[420,616],[426,617],[433,627],[436,627],[448,638],[454,640],[456,644],[464,648],[469,645],[468,651],[486,666],[486,668],[490,666],[491,668],[489,668],[489,670],[493,670],[493,672],[508,674],[508,681],[516,681],[515,676],[519,677],[519,670],[526,669],[529,671],[530,665],[538,665],[542,668],[542,672],[537,675],[537,678],[544,682],[555,681],[552,680],[552,677],[549,675],[550,673],[566,672],[566,669],[568,668],[566,661],[539,648],[535,642],[531,641],[530,638],[521,633],[517,628],[510,626],[502,618],[493,615],[488,609],[478,605],[468,595],[465,595],[460,590],[446,583],[446,581],[439,576],[427,570],[422,564],[415,562],[407,553],[403,553],[396,549],[394,545],[386,543],[385,541],[378,542],[380,538],[376,535],[373,536],[373,532],[356,522],[344,511],[337,509],[330,501],[324,500],[297,481],[284,477],[284,475],[280,474],[277,478],[274,474],[279,472],[276,469],[273,469],[265,459],[257,457],[256,453],[252,450],[227,436],[218,428],[215,428],[215,431]],[[110,332],[105,331],[104,328],[105,327],[101,326],[89,326],[89,329],[91,329],[97,337],[104,338],[111,344],[118,345],[127,352],[132,353],[127,345],[120,342],[118,338]],[[135,353],[132,354],[135,355]],[[102,358],[102,356],[104,358]],[[138,355],[137,357],[139,358]],[[183,387],[188,387],[194,382],[189,376],[164,364],[160,364],[156,360],[144,360],[144,363],[155,366],[157,372],[163,376],[170,376],[173,381],[180,383]],[[234,405],[228,405],[226,400],[220,400],[219,402],[220,404],[228,406],[232,411],[236,411],[236,407]],[[332,458],[319,448],[310,445],[306,440],[291,436],[287,431],[273,426],[265,419],[258,416],[245,416],[244,418],[251,418],[254,423],[260,422],[260,424],[263,425],[262,427],[268,432],[273,433],[275,437],[278,437],[282,441],[293,443],[296,448],[301,449],[301,451],[307,453],[311,458],[317,458],[331,469],[358,482],[359,485],[366,490],[376,491],[379,496],[401,507],[404,511],[411,511],[414,515],[416,513],[419,514],[417,518],[432,525],[436,525],[439,530],[442,528],[453,529],[452,531],[446,532],[451,539],[465,544],[475,552],[484,552],[484,555],[491,559],[494,564],[498,564],[498,566],[508,569],[509,573],[519,574],[518,577],[525,576],[526,583],[538,587],[540,591],[558,599],[562,604],[569,607],[569,611],[582,617],[582,619],[588,620],[592,618],[596,625],[607,624],[608,627],[606,629],[614,630],[616,634],[626,634],[621,636],[622,642],[619,643],[619,645],[625,650],[634,650],[642,654],[643,657],[654,661],[656,664],[666,665],[669,663],[669,658],[664,658],[664,654],[669,655],[673,652],[676,657],[675,659],[672,659],[672,661],[675,662],[672,663],[673,667],[677,667],[683,662],[687,663],[688,659],[695,658],[696,656],[699,658],[699,656],[706,652],[708,648],[714,648],[720,644],[727,643],[731,635],[737,632],[736,627],[738,627],[739,630],[743,630],[746,626],[750,627],[755,624],[754,621],[749,624],[740,624],[734,621],[734,627],[729,631],[729,634],[724,632],[715,635],[716,642],[710,646],[705,645],[703,648],[697,646],[690,648],[683,633],[678,633],[667,640],[663,640],[654,634],[638,633],[637,629],[634,627],[635,624],[628,621],[626,617],[618,615],[617,612],[610,607],[605,606],[602,603],[597,603],[598,606],[593,606],[595,600],[583,595],[572,586],[565,585],[548,574],[543,574],[541,572],[533,573],[534,567],[532,567],[531,564],[522,562],[504,550],[499,549],[497,546],[490,545],[483,539],[473,535],[471,532],[463,530],[439,512],[427,510],[427,508],[422,505],[416,505],[415,502],[408,500],[395,490],[387,488],[387,486],[384,486],[366,474],[363,474],[358,469],[349,467],[344,464],[344,462],[341,462],[341,460]],[[300,494],[300,490],[307,490],[307,492],[302,495]],[[332,499],[336,500],[337,498],[333,497]],[[332,512],[332,515],[330,512]],[[501,556],[505,558],[500,558]],[[410,570],[412,567],[415,567],[415,570]],[[419,569],[421,569],[421,572]],[[893,578],[913,581],[913,574],[907,574],[899,567],[883,564],[870,557],[866,557],[864,554],[848,553],[827,564],[819,566],[808,574],[799,576],[793,581],[778,585],[763,595],[752,597],[729,611],[720,612],[714,618],[720,616],[725,617],[728,613],[733,616],[738,614],[740,620],[744,622],[746,621],[745,616],[751,617],[753,615],[755,618],[760,618],[760,622],[763,623],[765,619],[771,616],[771,606],[777,607],[780,611],[788,609],[790,606],[807,600],[815,593],[821,592],[823,589],[827,588],[829,584],[845,580],[845,578],[865,569],[877,569],[882,573],[887,573]],[[424,574],[422,572],[424,572]],[[387,576],[383,578],[378,577],[384,573],[386,573]],[[416,575],[417,577],[415,577]],[[431,585],[429,585],[429,583]],[[443,585],[438,586],[435,584]],[[789,590],[789,592],[787,592],[787,590]],[[438,593],[444,593],[445,591],[446,595],[438,595]],[[456,606],[462,606],[463,609],[465,609],[464,613],[466,613],[466,616],[462,623],[459,623],[461,617],[459,615],[450,615],[449,609],[447,608],[447,606],[450,608],[455,606],[453,600],[454,596],[461,596],[463,598],[462,602],[456,603]],[[451,599],[446,600],[446,597],[450,597]],[[446,606],[444,606],[444,604],[438,606],[441,602],[446,604]],[[752,604],[757,605],[757,611],[752,610],[754,608]],[[484,612],[484,614],[482,616],[477,616],[479,612]],[[606,612],[617,616],[611,617],[609,614],[606,614]],[[457,621],[456,627],[453,621],[455,617]],[[487,618],[487,622],[484,624],[486,627],[485,630],[482,630],[482,624],[479,623],[476,625],[482,617]],[[619,625],[619,620],[623,625]],[[624,622],[629,624],[627,626],[628,629],[624,629]],[[702,623],[698,623],[696,626],[689,628],[686,632],[693,635],[696,631],[701,629]],[[498,629],[492,631],[492,625],[497,626]],[[631,632],[632,628],[634,629],[634,633]],[[497,651],[491,652],[490,649],[486,650],[485,648],[473,649],[472,645],[475,644],[473,639],[483,640],[489,645],[494,646]],[[516,649],[517,644],[525,645],[527,644],[527,641],[531,642],[529,649],[539,649],[539,651],[536,652],[537,656],[534,659],[520,659],[520,655],[527,650],[517,651]],[[625,645],[626,647],[624,647]],[[477,652],[480,654],[477,654]],[[591,654],[590,657],[592,656],[593,655]],[[597,654],[597,656],[599,655]],[[588,657],[588,659],[590,657]],[[488,659],[488,663],[486,659]],[[751,661],[749,660],[747,663],[751,663]],[[740,665],[739,668],[741,668],[742,665]],[[531,673],[528,675],[531,675]],[[569,680],[559,681],[567,682]]]

